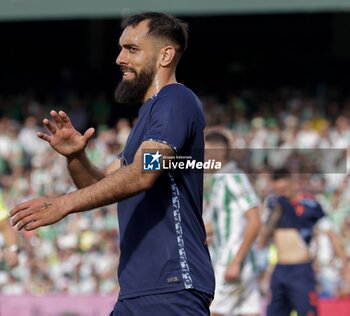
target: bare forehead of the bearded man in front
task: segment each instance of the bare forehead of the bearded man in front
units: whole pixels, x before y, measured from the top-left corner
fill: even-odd
[[[119,44],[123,45],[142,45],[146,41],[150,41],[148,34],[148,21],[141,21],[139,24],[127,26],[119,38]]]

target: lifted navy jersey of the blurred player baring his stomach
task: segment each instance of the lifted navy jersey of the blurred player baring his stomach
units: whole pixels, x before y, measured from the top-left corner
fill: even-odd
[[[268,207],[272,210],[276,203],[282,210],[277,228],[295,228],[309,244],[314,225],[325,216],[321,205],[311,194],[307,193],[300,193],[291,201],[284,196],[272,196],[269,198]]]

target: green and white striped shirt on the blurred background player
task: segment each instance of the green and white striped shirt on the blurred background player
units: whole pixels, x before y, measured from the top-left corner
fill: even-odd
[[[247,177],[229,162],[213,175],[207,218],[213,226],[211,256],[214,264],[228,265],[244,236],[245,213],[259,205],[258,197]]]

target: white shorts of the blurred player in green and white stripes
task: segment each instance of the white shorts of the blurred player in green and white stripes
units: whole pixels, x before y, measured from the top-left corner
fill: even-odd
[[[225,281],[226,266],[215,266],[215,296],[210,311],[220,315],[261,313],[261,301],[256,275],[252,264],[247,262],[241,271],[240,280]]]

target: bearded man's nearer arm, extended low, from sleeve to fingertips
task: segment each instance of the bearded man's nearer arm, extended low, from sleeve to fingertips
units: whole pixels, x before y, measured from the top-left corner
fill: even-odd
[[[18,230],[24,227],[33,230],[56,223],[68,214],[115,203],[151,188],[161,171],[142,171],[142,153],[150,148],[166,156],[175,154],[166,144],[145,141],[137,150],[133,163],[100,181],[57,198],[41,197],[15,206],[10,211],[12,225],[17,225]]]

